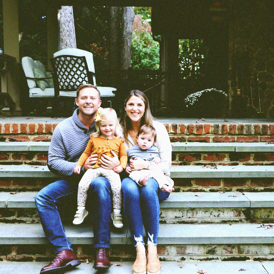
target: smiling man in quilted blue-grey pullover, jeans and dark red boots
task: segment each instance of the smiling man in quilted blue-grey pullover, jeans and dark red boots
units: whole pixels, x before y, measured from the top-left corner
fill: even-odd
[[[100,92],[91,84],[80,86],[76,96],[75,103],[78,109],[71,117],[56,126],[49,146],[48,167],[53,173],[61,176],[62,180],[49,184],[35,196],[36,207],[45,235],[55,253],[53,261],[43,267],[40,273],[65,271],[66,268],[76,267],[80,264],[65,234],[58,206],[62,202],[69,201],[72,198],[71,194],[77,193],[78,182],[84,171],[98,161],[98,155],[93,154],[84,163],[80,175],[73,172],[78,158],[86,148],[90,134],[94,132],[94,119],[101,100]],[[120,164],[115,153],[113,153],[113,158],[104,155],[99,161],[102,163],[101,166],[106,169],[113,169]],[[97,249],[94,268],[108,268],[110,267],[108,259],[111,213],[110,183],[104,177],[97,177],[90,184],[90,194],[92,209],[96,213],[92,220],[94,247]]]

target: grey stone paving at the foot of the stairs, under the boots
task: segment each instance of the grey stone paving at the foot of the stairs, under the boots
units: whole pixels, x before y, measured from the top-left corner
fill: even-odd
[[[130,274],[132,273],[133,262],[111,262],[112,267],[108,270],[109,274]],[[121,266],[115,266],[115,265]],[[44,267],[45,262],[0,262],[1,274],[21,273],[21,274],[36,274]],[[274,262],[255,262],[255,261],[186,261],[186,262],[161,262],[162,274],[196,274],[199,270],[204,270],[208,274],[239,274],[239,269],[245,269],[245,274],[273,274]],[[93,266],[93,261],[90,263],[81,263],[78,267],[72,270],[66,270],[67,274],[86,274],[97,273]]]

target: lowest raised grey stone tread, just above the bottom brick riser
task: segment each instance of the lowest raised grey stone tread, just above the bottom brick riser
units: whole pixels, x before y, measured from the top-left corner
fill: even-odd
[[[273,224],[272,224],[273,225]],[[273,229],[264,229],[254,223],[239,224],[160,224],[158,243],[163,244],[264,244],[274,243]],[[18,233],[20,231],[20,233]],[[90,244],[92,229],[86,225],[65,225],[72,244]],[[203,233],[201,233],[201,231]],[[45,244],[41,224],[0,223],[0,244]],[[111,233],[111,244],[131,244],[129,231],[121,229]]]

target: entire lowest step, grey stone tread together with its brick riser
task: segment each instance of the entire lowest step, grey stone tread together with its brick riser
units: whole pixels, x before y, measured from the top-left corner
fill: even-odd
[[[72,248],[80,258],[92,255],[92,229],[65,225]],[[160,224],[158,255],[164,261],[185,260],[274,260],[273,229],[258,224]],[[19,233],[20,231],[20,233]],[[112,229],[112,260],[134,260],[130,233]],[[0,223],[1,259],[8,261],[50,261],[53,257],[41,224]]]

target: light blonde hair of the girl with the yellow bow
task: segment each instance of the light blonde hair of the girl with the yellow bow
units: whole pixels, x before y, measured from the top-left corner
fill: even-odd
[[[95,132],[92,133],[94,137],[98,137],[101,135],[100,132],[100,123],[104,124],[108,121],[114,121],[115,125],[115,132],[114,132],[114,138],[118,139],[122,136],[122,128],[119,124],[117,114],[113,108],[103,108],[102,112],[100,113],[101,120],[98,122],[95,122]]]

